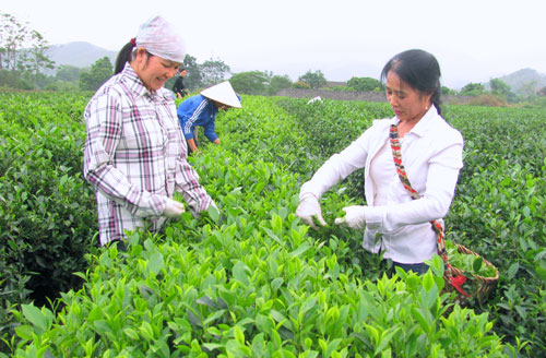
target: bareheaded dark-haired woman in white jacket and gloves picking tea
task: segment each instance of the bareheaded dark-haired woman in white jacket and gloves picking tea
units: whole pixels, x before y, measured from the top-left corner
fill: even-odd
[[[367,205],[344,207],[335,224],[363,229],[363,246],[383,252],[394,265],[418,274],[425,260],[437,252],[430,222],[441,219],[451,205],[459,171],[463,166],[463,138],[441,117],[440,67],[423,50],[394,56],[383,68],[381,80],[395,117],[376,120],[356,141],[330,157],[311,180],[301,186],[296,215],[317,228],[322,218],[319,198],[340,180],[365,168]],[[396,126],[402,163],[419,199],[413,200],[396,172],[389,140]]]

